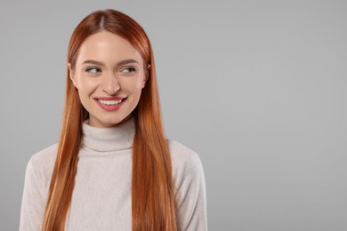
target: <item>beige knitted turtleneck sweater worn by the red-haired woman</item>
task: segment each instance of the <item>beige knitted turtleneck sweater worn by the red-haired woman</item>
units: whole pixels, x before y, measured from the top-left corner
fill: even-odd
[[[83,124],[83,142],[65,230],[132,230],[133,120],[101,129]],[[205,231],[206,185],[196,153],[168,140],[178,230]],[[40,231],[57,144],[33,155],[25,176],[20,231]]]

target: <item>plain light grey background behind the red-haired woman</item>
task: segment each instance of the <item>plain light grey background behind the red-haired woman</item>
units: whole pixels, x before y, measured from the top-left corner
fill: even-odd
[[[1,1],[1,230],[61,125],[69,36],[115,8],[149,34],[167,137],[204,164],[209,230],[347,230],[346,1]]]

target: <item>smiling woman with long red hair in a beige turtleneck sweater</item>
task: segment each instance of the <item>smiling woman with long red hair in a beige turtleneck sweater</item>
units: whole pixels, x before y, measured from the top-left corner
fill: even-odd
[[[28,163],[20,230],[206,229],[203,168],[165,139],[148,36],[91,13],[69,42],[60,141]]]

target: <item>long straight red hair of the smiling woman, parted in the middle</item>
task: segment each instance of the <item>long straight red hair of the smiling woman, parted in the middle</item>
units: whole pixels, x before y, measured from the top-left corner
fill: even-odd
[[[132,226],[134,230],[176,230],[173,175],[165,141],[155,62],[149,38],[141,26],[122,12],[93,12],[74,30],[68,63],[75,68],[78,50],[88,36],[109,31],[124,37],[140,52],[149,78],[133,111]],[[82,123],[88,118],[76,87],[67,73],[66,99],[58,153],[44,211],[43,230],[63,230],[67,219],[82,141]]]

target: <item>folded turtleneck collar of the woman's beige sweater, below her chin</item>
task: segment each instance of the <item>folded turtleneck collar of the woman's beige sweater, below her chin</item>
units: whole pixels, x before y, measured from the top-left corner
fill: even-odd
[[[96,152],[112,152],[133,147],[135,123],[133,118],[110,128],[96,128],[85,121],[82,125],[82,147]]]

